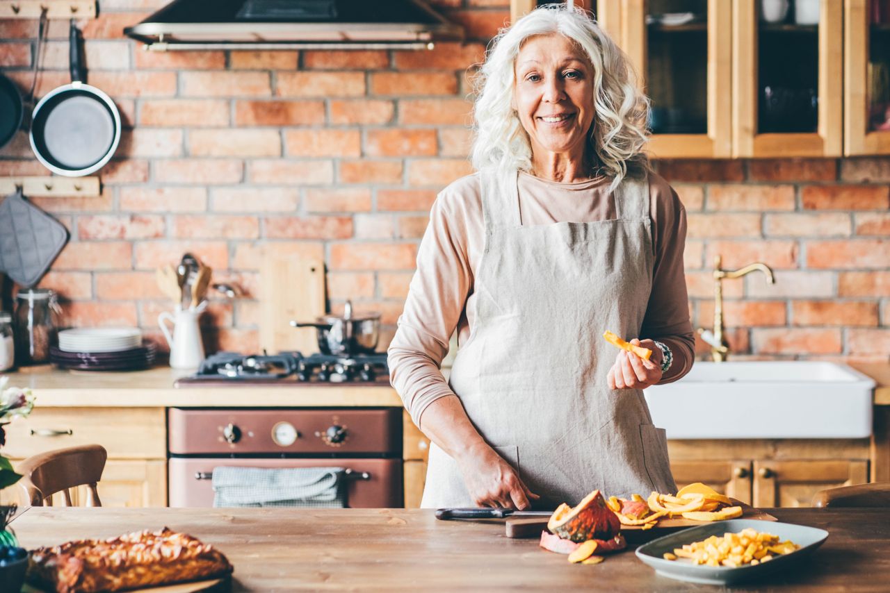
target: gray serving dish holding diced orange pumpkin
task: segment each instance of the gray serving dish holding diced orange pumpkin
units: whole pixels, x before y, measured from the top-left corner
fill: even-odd
[[[665,560],[665,552],[673,552],[684,544],[706,540],[712,535],[722,536],[724,533],[739,533],[742,529],[752,527],[758,532],[773,533],[781,541],[794,541],[800,549],[782,556],[773,557],[769,562],[759,565],[745,565],[738,568],[726,566],[693,565],[683,559]],[[684,529],[682,532],[671,533],[652,540],[636,549],[636,557],[655,569],[655,572],[668,579],[679,581],[700,582],[710,585],[730,585],[739,581],[756,579],[778,570],[788,570],[799,560],[813,553],[828,538],[824,529],[793,525],[790,523],[754,521],[751,519],[731,519],[716,521],[708,525],[700,525]]]

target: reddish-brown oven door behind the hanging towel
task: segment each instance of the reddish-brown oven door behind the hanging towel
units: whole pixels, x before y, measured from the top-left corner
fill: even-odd
[[[401,459],[179,458],[168,460],[171,507],[212,507],[214,468],[319,468],[352,470],[346,477],[346,506],[352,509],[401,508]],[[361,477],[367,473],[368,477]]]

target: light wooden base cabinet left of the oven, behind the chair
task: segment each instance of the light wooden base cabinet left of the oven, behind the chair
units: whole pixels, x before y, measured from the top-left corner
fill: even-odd
[[[6,427],[4,454],[17,461],[53,449],[98,444],[108,451],[99,498],[105,507],[166,506],[166,412],[164,408],[36,407]],[[0,491],[0,501],[19,501],[18,486]],[[81,505],[85,488],[71,492]],[[61,496],[53,497],[61,505]]]

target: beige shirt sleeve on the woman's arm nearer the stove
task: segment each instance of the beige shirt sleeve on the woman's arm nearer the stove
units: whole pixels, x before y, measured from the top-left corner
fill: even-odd
[[[441,373],[441,361],[473,286],[466,221],[456,198],[443,191],[433,203],[417,271],[387,350],[392,387],[417,427],[428,405],[456,395]]]

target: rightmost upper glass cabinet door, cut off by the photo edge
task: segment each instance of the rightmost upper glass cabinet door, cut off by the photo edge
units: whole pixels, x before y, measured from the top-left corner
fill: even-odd
[[[890,3],[844,3],[844,154],[890,154]]]

